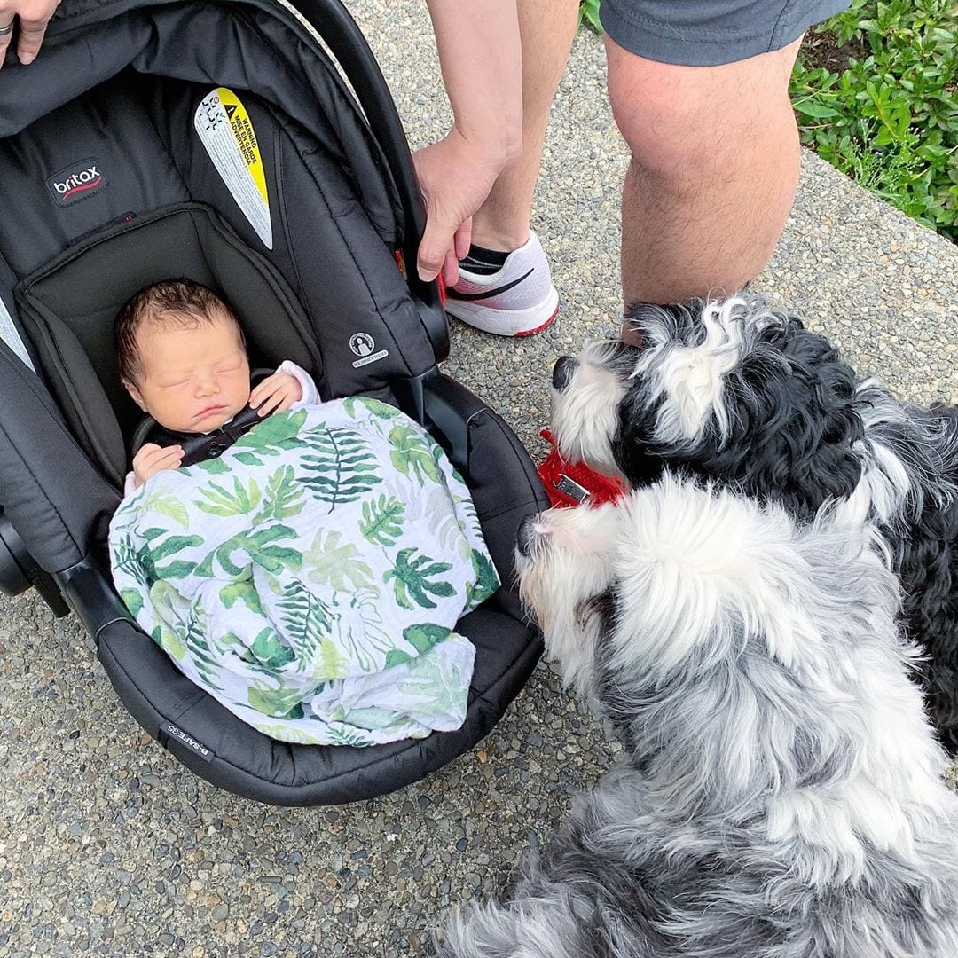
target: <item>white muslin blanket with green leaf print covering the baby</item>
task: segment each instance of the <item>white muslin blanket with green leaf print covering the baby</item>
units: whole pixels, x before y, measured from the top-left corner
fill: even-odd
[[[458,728],[475,650],[452,629],[499,584],[445,453],[362,398],[157,473],[113,516],[110,558],[183,673],[265,735],[317,744]]]

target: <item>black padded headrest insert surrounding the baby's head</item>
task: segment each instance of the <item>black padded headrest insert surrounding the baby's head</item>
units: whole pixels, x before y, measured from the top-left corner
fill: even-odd
[[[124,437],[142,413],[120,383],[113,320],[132,295],[171,277],[208,285],[229,303],[258,362],[292,359],[321,377],[308,319],[285,280],[215,211],[182,203],[108,228],[23,280],[15,298],[67,422],[118,483]]]

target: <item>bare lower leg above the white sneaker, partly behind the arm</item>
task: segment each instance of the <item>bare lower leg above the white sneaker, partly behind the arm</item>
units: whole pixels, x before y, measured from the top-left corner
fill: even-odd
[[[472,241],[510,252],[529,239],[529,218],[549,110],[579,16],[578,0],[519,0],[522,38],[522,153],[472,217]]]

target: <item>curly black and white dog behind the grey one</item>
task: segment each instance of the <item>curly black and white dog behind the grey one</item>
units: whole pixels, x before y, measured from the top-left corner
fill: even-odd
[[[823,336],[757,298],[638,307],[641,347],[563,356],[560,452],[640,486],[672,469],[782,503],[800,521],[878,526],[924,651],[928,708],[958,752],[958,408],[859,382]]]

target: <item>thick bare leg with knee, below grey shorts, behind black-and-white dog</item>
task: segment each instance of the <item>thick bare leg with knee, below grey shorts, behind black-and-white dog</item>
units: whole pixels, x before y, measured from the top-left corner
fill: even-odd
[[[609,98],[632,153],[622,195],[627,305],[731,295],[771,258],[798,183],[788,78],[799,43],[678,66],[606,36]]]

